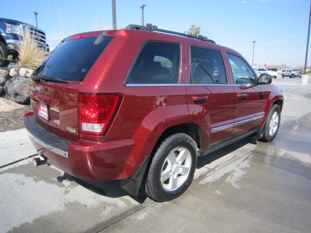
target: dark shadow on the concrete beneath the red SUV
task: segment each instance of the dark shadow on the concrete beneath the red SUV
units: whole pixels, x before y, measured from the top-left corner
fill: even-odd
[[[200,156],[198,157],[198,163],[196,168],[200,169],[201,167],[233,152],[234,150],[241,148],[248,143],[257,144],[257,141],[254,138],[244,138],[241,141],[226,146],[222,149],[216,150],[206,156]],[[121,188],[120,181],[92,182],[73,177],[67,173],[65,173],[63,176],[57,177],[58,182],[63,182],[64,180],[74,181],[98,195],[106,196],[109,198],[121,198],[124,196],[130,196],[138,203],[143,203],[147,199],[147,196],[143,190],[139,191],[138,197],[134,197],[128,194],[125,190]]]

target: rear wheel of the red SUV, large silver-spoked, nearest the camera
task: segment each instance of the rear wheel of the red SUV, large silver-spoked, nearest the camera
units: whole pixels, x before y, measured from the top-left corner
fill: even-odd
[[[193,180],[197,147],[185,133],[167,137],[155,152],[144,188],[153,200],[163,202],[177,198]]]

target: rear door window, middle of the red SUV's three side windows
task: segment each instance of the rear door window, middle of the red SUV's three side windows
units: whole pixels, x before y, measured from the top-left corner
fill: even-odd
[[[190,83],[222,84],[227,83],[225,66],[220,51],[190,47]]]

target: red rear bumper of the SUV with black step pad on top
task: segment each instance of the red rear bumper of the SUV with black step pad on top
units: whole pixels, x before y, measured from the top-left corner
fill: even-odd
[[[90,181],[122,180],[133,177],[150,154],[156,138],[133,137],[93,142],[72,142],[49,132],[36,117],[24,123],[38,153],[72,176]]]

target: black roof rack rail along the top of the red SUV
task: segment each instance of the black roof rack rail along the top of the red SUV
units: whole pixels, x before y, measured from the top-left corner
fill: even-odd
[[[173,31],[159,29],[159,28],[157,28],[157,26],[152,25],[151,23],[147,23],[146,26],[141,26],[141,25],[136,25],[136,24],[129,24],[129,25],[126,26],[125,29],[169,33],[169,34],[174,34],[174,35],[186,36],[186,37],[189,37],[189,38],[192,38],[192,39],[204,40],[204,41],[216,44],[215,41],[213,41],[211,39],[207,39],[206,36],[203,36],[201,34],[199,34],[197,36],[194,36],[194,35],[189,35],[189,34],[185,34],[185,33],[177,33],[177,32],[173,32]]]

